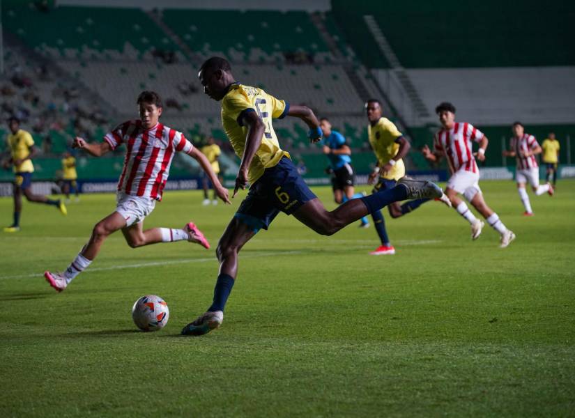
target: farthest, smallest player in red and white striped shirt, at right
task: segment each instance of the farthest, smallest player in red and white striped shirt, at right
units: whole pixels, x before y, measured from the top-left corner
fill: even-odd
[[[517,181],[519,197],[521,198],[521,202],[523,202],[523,206],[525,206],[523,216],[532,216],[533,210],[531,209],[529,196],[525,189],[526,183],[529,182],[533,192],[535,192],[537,196],[544,193],[549,193],[549,196],[553,196],[553,186],[549,183],[539,185],[539,164],[537,164],[535,155],[540,154],[542,149],[537,143],[537,139],[535,139],[533,135],[525,132],[525,127],[523,127],[521,122],[515,122],[512,125],[512,131],[513,138],[509,141],[509,150],[503,151],[503,155],[506,157],[516,157],[517,167],[515,179]]]

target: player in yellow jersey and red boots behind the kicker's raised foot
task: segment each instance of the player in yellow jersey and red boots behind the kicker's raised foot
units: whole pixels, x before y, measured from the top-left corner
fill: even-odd
[[[388,118],[383,117],[381,109],[381,102],[376,99],[367,100],[365,104],[365,111],[367,115],[367,137],[369,145],[377,158],[376,167],[374,171],[369,174],[369,184],[377,183],[373,189],[373,193],[381,190],[387,190],[395,187],[397,180],[405,176],[405,165],[403,157],[407,155],[411,145],[407,139],[397,130],[397,127]],[[440,198],[444,203],[449,205],[445,195]],[[392,218],[401,217],[407,213],[419,208],[423,203],[429,199],[415,199],[408,201],[403,205],[398,202],[388,205],[390,216]],[[369,254],[372,256],[381,256],[385,254],[395,254],[395,248],[391,245],[388,231],[385,229],[385,220],[381,210],[371,213],[374,218],[374,224],[381,241],[381,245]]]

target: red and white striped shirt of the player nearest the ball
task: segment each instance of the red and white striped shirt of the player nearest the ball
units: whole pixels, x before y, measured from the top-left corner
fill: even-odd
[[[116,149],[126,144],[124,168],[118,192],[162,200],[174,151],[190,153],[193,146],[181,132],[158,123],[151,129],[141,121],[127,121],[105,134],[104,140]]]

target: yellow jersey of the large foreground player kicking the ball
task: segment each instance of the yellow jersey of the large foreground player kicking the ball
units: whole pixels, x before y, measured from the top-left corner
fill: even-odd
[[[246,111],[255,111],[265,125],[261,144],[254,155],[247,172],[247,179],[254,184],[263,175],[263,170],[274,167],[282,157],[289,158],[289,153],[279,148],[273,130],[272,118],[284,118],[289,111],[289,104],[277,100],[261,88],[232,84],[222,99],[222,125],[238,155],[243,156],[247,126],[240,125],[240,115]]]

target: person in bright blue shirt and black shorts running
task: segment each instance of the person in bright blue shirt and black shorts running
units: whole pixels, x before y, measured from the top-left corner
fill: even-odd
[[[363,194],[355,193],[353,189],[355,172],[351,165],[351,148],[349,148],[346,139],[339,132],[332,130],[332,124],[328,118],[321,118],[319,127],[323,134],[320,144],[322,145],[323,153],[330,162],[335,203],[341,204],[349,199],[363,197]],[[368,226],[367,217],[362,217],[360,227],[367,228]]]

